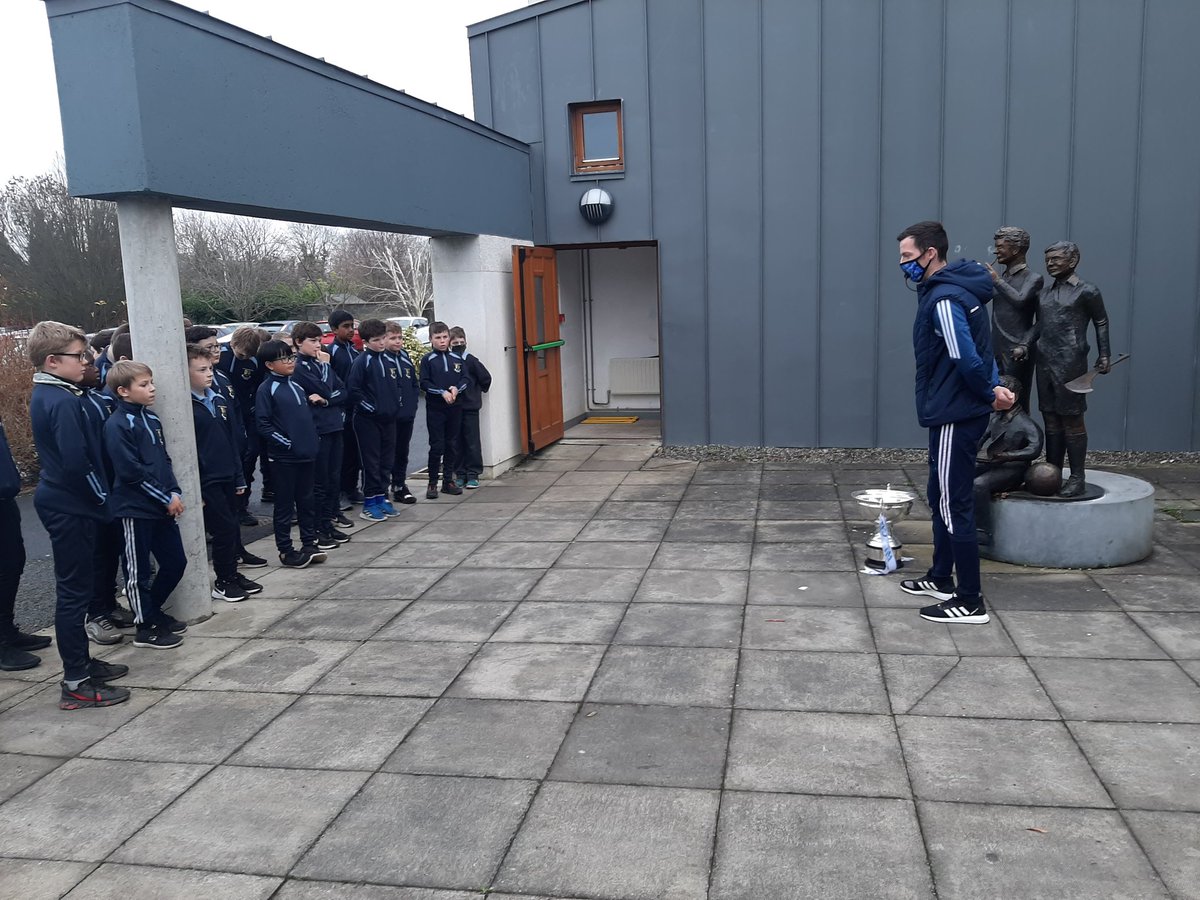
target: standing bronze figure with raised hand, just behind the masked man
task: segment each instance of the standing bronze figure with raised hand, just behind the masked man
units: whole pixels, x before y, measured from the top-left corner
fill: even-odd
[[[992,282],[991,304],[991,346],[996,354],[996,367],[1001,374],[1010,374],[1022,385],[1016,402],[1025,412],[1030,412],[1030,394],[1033,390],[1033,360],[1026,356],[1018,361],[1013,359],[1013,348],[1021,343],[1025,335],[1033,328],[1033,317],[1038,311],[1038,292],[1042,290],[1042,276],[1031,271],[1025,262],[1030,250],[1030,233],[1024,228],[1004,226],[996,229],[992,238],[996,264],[1004,266],[1001,275],[990,265],[988,271]]]

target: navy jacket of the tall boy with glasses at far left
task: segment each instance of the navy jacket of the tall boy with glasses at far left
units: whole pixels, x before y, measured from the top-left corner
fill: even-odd
[[[42,463],[34,503],[52,512],[106,522],[112,517],[103,450],[88,428],[83,389],[52,374],[34,376],[29,419]]]

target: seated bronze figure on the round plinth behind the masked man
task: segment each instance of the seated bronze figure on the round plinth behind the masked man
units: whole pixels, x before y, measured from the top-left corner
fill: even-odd
[[[1000,383],[1016,396],[1025,386],[1013,376],[1002,376]],[[976,454],[976,533],[980,546],[991,545],[991,496],[1021,486],[1030,463],[1042,455],[1042,428],[1019,403],[991,414]]]

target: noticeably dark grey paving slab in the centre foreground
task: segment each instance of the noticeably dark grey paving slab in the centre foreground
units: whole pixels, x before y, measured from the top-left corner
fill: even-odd
[[[727,709],[584,703],[550,778],[719,788],[728,739]]]

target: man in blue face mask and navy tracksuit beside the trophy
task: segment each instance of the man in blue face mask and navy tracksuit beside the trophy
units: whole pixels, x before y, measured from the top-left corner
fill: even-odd
[[[934,520],[934,563],[924,578],[901,581],[900,588],[940,601],[920,611],[924,619],[982,625],[989,617],[974,527],[976,454],[991,410],[1008,409],[1015,401],[1000,385],[992,356],[985,306],[991,276],[973,259],[947,264],[949,240],[940,222],[918,222],[896,240],[900,269],[917,284],[917,418],[929,428]]]

